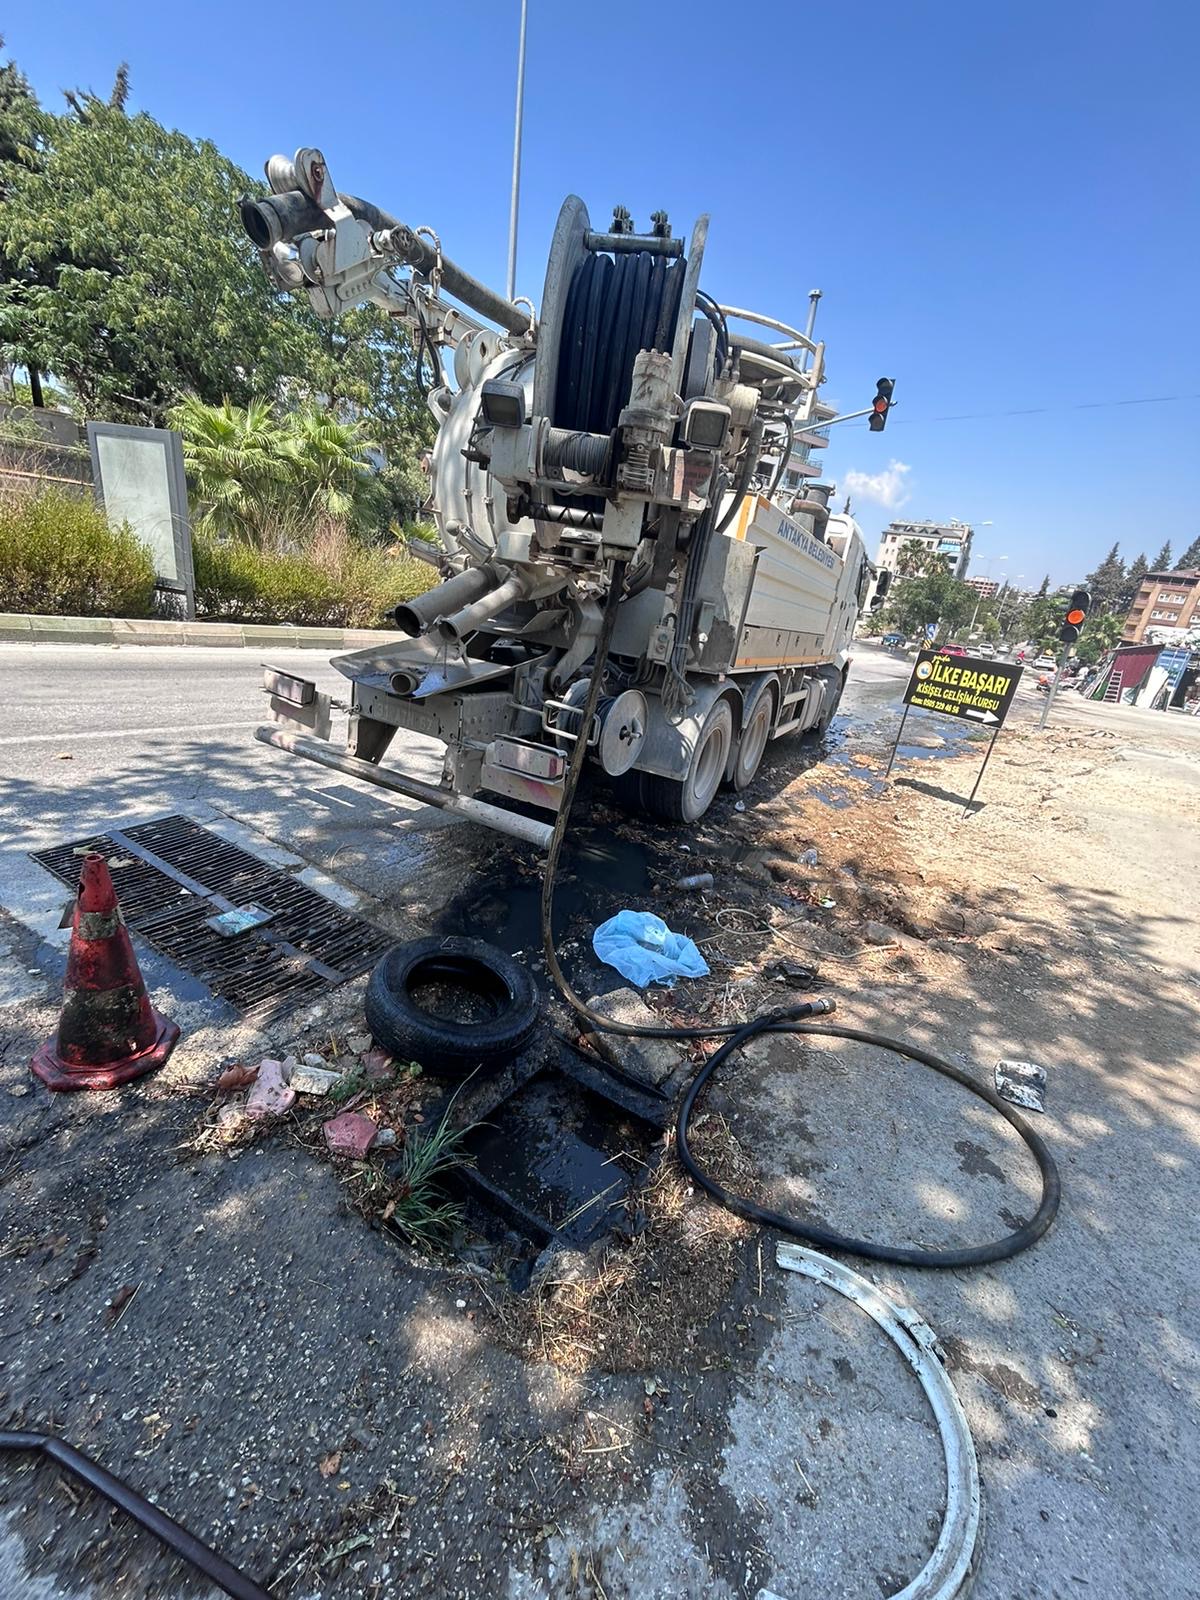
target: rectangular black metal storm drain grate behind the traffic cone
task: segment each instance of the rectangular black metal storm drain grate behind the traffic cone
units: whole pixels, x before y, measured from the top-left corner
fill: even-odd
[[[392,942],[291,874],[186,816],[42,850],[34,861],[72,891],[83,856],[110,866],[126,923],[147,944],[240,1011],[278,1011],[366,971]],[[246,904],[274,910],[262,928],[226,939],[206,918]]]

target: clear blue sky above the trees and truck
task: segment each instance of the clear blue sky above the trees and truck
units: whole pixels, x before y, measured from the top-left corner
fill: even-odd
[[[125,59],[136,107],[251,171],[317,144],[339,187],[502,288],[517,13],[58,0],[5,32],[46,102],[107,93]],[[827,398],[853,410],[896,378],[886,432],[845,424],[827,453],[870,534],[989,520],[974,570],[1037,584],[1114,539],[1154,557],[1200,533],[1189,0],[530,13],[518,293],[541,296],[568,190],[602,224],[614,202],[643,226],[709,211],[718,299],[802,320],[824,290]]]

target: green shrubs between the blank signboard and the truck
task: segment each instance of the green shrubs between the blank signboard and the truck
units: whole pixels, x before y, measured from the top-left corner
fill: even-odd
[[[379,627],[435,578],[432,566],[403,550],[366,547],[331,531],[286,552],[200,536],[194,562],[197,613],[229,622]]]

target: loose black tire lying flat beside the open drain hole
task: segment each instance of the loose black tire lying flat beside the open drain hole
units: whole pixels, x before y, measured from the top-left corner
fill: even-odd
[[[456,1022],[424,1011],[413,998],[418,982],[443,979],[490,998],[496,1011],[482,1022]],[[366,1026],[384,1050],[429,1070],[464,1077],[475,1067],[499,1067],[528,1042],[541,997],[528,971],[483,939],[416,939],[397,944],[366,984]]]

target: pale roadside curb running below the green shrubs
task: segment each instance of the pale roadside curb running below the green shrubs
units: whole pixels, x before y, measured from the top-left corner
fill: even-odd
[[[392,629],[280,627],[261,622],[168,622],[125,616],[30,616],[0,611],[6,645],[208,645],[226,650],[363,650],[400,640]]]

